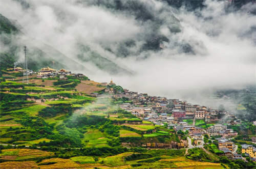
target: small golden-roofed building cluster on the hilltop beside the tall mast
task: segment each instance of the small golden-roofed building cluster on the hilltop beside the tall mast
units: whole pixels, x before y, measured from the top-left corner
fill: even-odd
[[[34,72],[33,70],[25,70],[20,67],[14,66],[14,71],[19,71],[23,72],[23,75],[33,75],[36,74],[37,78],[53,78],[53,77],[59,77],[59,79],[67,79],[66,76],[75,76],[75,77],[82,77],[84,76],[81,73],[72,73],[71,71],[67,71],[65,69],[60,69],[59,71],[46,67],[46,68],[41,68],[38,72]]]

